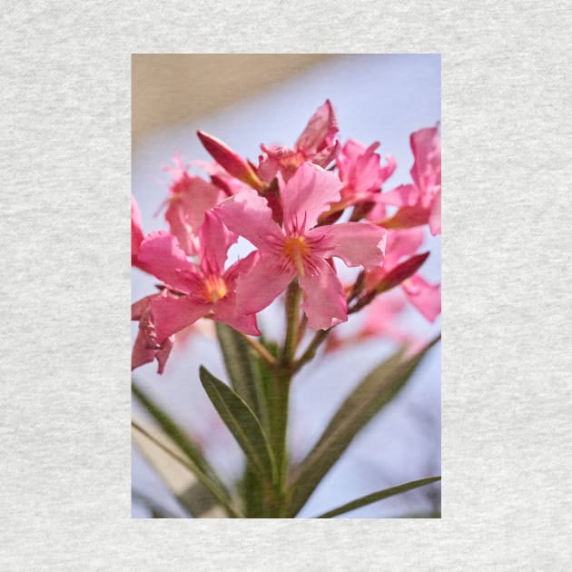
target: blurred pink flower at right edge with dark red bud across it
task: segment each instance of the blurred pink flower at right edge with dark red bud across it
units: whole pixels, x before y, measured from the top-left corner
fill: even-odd
[[[383,266],[366,272],[365,283],[370,291],[390,290],[399,284],[411,304],[427,320],[435,321],[441,313],[441,287],[429,284],[416,273],[427,257],[427,254],[415,254],[422,243],[421,227],[388,231]]]

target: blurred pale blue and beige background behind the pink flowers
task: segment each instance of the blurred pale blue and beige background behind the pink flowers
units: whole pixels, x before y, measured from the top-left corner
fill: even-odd
[[[182,159],[210,160],[196,137],[202,130],[257,162],[261,143],[291,145],[316,108],[329,98],[349,137],[392,155],[398,168],[384,190],[410,182],[413,157],[409,134],[440,120],[438,54],[133,54],[132,192],[145,233],[166,228],[160,205],[169,175],[163,166],[174,153]],[[427,235],[431,251],[421,274],[440,281],[440,237]],[[244,245],[237,246],[238,251]],[[341,269],[343,271],[343,269]],[[347,276],[352,275],[349,271]],[[155,291],[156,281],[133,270],[133,301]],[[279,304],[262,312],[262,324],[278,338],[283,330]],[[356,317],[359,321],[359,316]],[[134,372],[141,387],[202,443],[228,482],[241,474],[242,456],[203,393],[203,364],[226,380],[222,356],[207,322],[178,340],[163,376],[149,364]],[[133,334],[136,332],[133,323]],[[355,330],[355,323],[340,330]],[[403,329],[429,340],[440,330],[408,309]],[[301,370],[292,386],[290,443],[301,460],[321,435],[350,390],[395,346],[369,340],[347,350],[320,354]],[[133,415],[144,419],[133,404]],[[353,441],[299,515],[312,517],[344,502],[417,478],[439,475],[440,347],[431,350],[408,385]],[[174,516],[182,510],[162,478],[133,447],[133,518],[152,513],[141,501],[153,498]],[[409,518],[440,514],[440,486],[429,486],[360,508],[339,518]]]

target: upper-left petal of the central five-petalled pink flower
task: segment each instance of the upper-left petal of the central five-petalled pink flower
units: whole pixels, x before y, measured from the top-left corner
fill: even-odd
[[[266,199],[244,189],[213,209],[228,229],[243,236],[261,251],[271,248],[271,240],[282,241],[281,228],[272,220]]]

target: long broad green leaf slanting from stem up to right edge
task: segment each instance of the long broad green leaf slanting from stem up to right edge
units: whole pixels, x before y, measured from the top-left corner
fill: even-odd
[[[351,441],[405,386],[427,351],[439,340],[440,335],[407,360],[403,358],[403,350],[399,350],[372,370],[351,392],[330,420],[318,443],[292,476],[289,517],[300,512]]]

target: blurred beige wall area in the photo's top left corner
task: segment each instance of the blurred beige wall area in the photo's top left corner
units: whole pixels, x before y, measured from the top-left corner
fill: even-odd
[[[327,54],[133,54],[132,142],[258,94]]]

